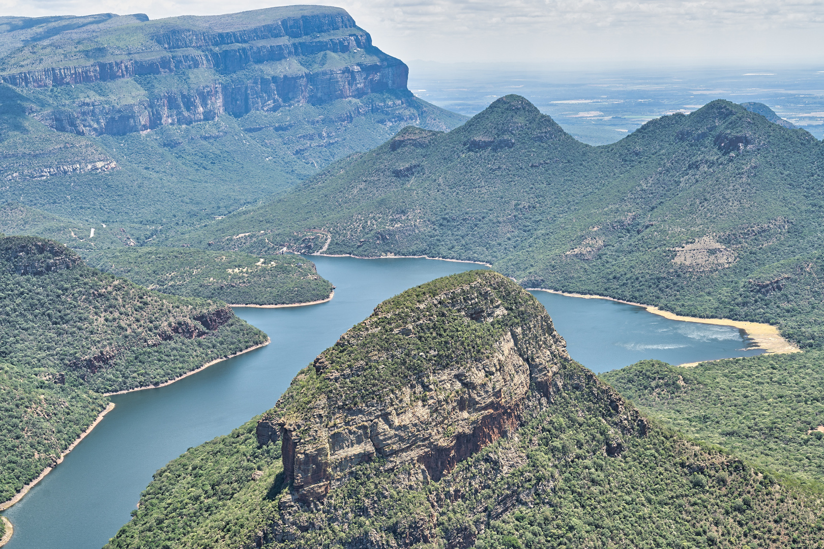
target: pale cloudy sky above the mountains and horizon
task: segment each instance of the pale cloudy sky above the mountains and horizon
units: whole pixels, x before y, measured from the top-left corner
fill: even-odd
[[[274,0],[0,0],[2,16],[214,15]],[[405,61],[590,66],[821,64],[824,0],[340,0]]]

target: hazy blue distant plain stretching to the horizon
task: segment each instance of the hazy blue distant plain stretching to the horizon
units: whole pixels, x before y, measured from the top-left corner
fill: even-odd
[[[596,69],[412,61],[409,89],[456,113],[480,113],[502,95],[523,95],[590,145],[620,140],[651,119],[690,113],[711,100],[757,101],[824,138],[824,65]]]

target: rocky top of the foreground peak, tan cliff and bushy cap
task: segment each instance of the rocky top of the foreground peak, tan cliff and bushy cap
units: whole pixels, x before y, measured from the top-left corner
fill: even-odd
[[[413,465],[422,479],[438,482],[513,435],[528,402],[552,401],[562,390],[559,370],[573,364],[564,339],[512,281],[475,272],[419,297],[380,305],[318,356],[260,421],[259,443],[282,444],[284,482],[297,503],[324,500],[373,460],[386,470]],[[573,383],[598,386],[594,375]],[[621,412],[620,397],[610,398]],[[619,423],[635,430],[637,421],[635,415]],[[612,454],[619,453],[617,438],[613,445]]]

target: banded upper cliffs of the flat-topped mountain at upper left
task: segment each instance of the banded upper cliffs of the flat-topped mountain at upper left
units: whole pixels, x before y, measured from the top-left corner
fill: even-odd
[[[72,63],[83,59],[72,45],[61,57],[55,45],[59,42],[52,43],[53,54],[45,56],[52,66],[7,72],[0,81],[33,91],[54,86],[85,90],[83,86],[142,78],[137,83],[143,91],[118,100],[91,88],[58,104],[42,96],[44,105],[51,106],[36,112],[36,119],[59,132],[90,136],[191,124],[224,113],[241,116],[284,105],[322,105],[384,91],[411,97],[404,63],[372,46],[371,37],[348,13],[316,10],[302,16],[284,17],[287,8],[271,8],[227,17],[136,22],[129,30],[143,41],[130,49],[107,45],[116,29],[101,30],[84,37],[98,46],[91,51],[101,60]],[[16,50],[0,59],[0,67],[18,67],[25,63],[17,60],[25,58]],[[188,77],[193,71],[196,76]],[[175,79],[171,85],[170,77]]]

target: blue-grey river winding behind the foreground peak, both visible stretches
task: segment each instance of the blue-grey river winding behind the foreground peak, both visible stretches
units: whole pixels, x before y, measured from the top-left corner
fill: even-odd
[[[223,435],[270,407],[293,376],[392,295],[478,265],[422,258],[311,258],[335,284],[327,303],[238,307],[269,334],[267,347],[162,388],[111,398],[115,409],[19,503],[6,549],[99,549],[129,520],[152,473],[186,449]],[[657,358],[672,364],[758,350],[737,328],[664,319],[634,305],[533,292],[569,353],[603,372]]]

